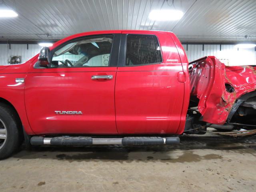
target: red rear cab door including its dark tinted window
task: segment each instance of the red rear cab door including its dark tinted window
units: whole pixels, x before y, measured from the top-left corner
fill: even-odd
[[[169,34],[123,32],[116,74],[119,134],[175,134],[184,99],[178,50]]]

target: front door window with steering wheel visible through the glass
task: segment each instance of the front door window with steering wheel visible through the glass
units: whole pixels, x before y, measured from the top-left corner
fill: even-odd
[[[50,67],[109,66],[112,43],[112,35],[73,40],[54,50]]]

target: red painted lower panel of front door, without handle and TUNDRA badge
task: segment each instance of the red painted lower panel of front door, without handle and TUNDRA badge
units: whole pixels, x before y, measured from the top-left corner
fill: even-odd
[[[93,75],[113,75],[113,79],[92,80]],[[116,134],[115,76],[116,67],[31,68],[25,82],[25,104],[34,132]]]

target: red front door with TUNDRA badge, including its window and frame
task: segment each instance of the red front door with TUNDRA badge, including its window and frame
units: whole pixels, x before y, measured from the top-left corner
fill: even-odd
[[[121,34],[76,38],[35,61],[25,79],[28,120],[36,134],[116,134],[114,85]]]

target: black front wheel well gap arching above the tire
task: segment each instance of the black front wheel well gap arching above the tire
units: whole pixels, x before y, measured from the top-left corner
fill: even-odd
[[[0,106],[3,106],[4,108],[8,108],[12,115],[14,116],[14,119],[16,120],[16,123],[18,125],[19,134],[21,137],[21,142],[24,140],[23,130],[22,130],[22,122],[20,120],[20,116],[18,115],[18,112],[14,108],[14,106],[6,99],[0,97]]]

